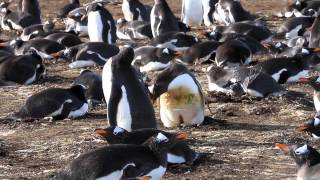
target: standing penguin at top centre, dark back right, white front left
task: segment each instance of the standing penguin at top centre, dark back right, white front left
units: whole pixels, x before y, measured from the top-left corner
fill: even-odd
[[[150,14],[150,22],[153,37],[166,32],[179,32],[179,23],[171,11],[166,0],[154,0],[154,6]]]

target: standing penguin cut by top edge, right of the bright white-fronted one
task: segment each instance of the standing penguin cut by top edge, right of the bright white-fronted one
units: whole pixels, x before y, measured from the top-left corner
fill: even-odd
[[[242,7],[239,0],[219,0],[215,6],[215,19],[225,25],[255,19],[253,15]]]

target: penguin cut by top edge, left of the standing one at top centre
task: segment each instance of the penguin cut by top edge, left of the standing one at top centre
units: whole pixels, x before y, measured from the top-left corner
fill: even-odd
[[[127,21],[149,21],[150,12],[139,0],[123,0],[122,12]]]

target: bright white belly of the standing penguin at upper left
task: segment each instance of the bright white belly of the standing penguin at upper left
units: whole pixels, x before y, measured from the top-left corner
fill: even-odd
[[[99,12],[90,12],[88,16],[88,34],[91,42],[103,42],[103,23]]]

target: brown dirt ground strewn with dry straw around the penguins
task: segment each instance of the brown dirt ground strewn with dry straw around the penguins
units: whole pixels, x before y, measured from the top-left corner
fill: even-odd
[[[167,0],[176,14],[180,0]],[[81,1],[83,2],[83,1]],[[144,0],[152,4],[152,0]],[[66,0],[40,0],[45,18]],[[253,13],[265,17],[275,30],[283,20],[272,17],[284,7],[284,0],[246,0],[243,4]],[[107,7],[121,16],[120,6]],[[46,63],[48,76],[38,84],[0,88],[0,116],[17,111],[32,94],[48,87],[68,87],[80,70],[70,70],[64,62]],[[190,67],[207,90],[203,67]],[[94,69],[101,72],[101,69]],[[289,156],[274,147],[276,142],[320,144],[294,128],[312,118],[312,90],[302,84],[288,85],[291,91],[307,93],[303,99],[267,98],[211,102],[206,115],[214,120],[200,127],[162,129],[192,134],[190,145],[204,157],[193,166],[172,166],[165,179],[294,179],[295,165]],[[158,112],[157,112],[158,113]],[[159,123],[160,124],[160,123]],[[161,125],[161,124],[160,124]],[[50,179],[81,153],[105,145],[94,129],[106,127],[106,108],[90,110],[84,118],[72,121],[0,123],[0,179]]]

